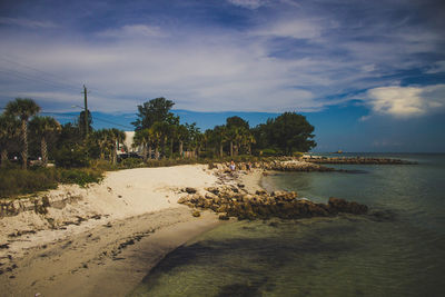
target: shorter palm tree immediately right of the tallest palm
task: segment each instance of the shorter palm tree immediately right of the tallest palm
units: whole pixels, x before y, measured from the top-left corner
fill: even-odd
[[[40,151],[43,167],[48,164],[48,138],[61,131],[60,123],[51,117],[34,117],[29,122],[30,130],[40,136]]]

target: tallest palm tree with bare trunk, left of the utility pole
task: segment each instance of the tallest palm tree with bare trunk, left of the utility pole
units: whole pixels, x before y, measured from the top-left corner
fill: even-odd
[[[28,120],[40,111],[40,107],[32,99],[16,98],[14,101],[8,102],[6,113],[18,117],[21,120],[23,169],[27,169],[28,162]]]

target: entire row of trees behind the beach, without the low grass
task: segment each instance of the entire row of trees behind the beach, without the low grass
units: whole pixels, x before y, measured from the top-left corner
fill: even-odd
[[[240,117],[229,117],[225,125],[202,132],[196,122],[181,123],[179,116],[171,112],[174,106],[174,101],[165,98],[137,106],[132,146],[140,149],[144,161],[293,155],[316,146],[313,140],[314,127],[296,112],[285,112],[256,127],[250,127]],[[36,101],[28,98],[17,98],[7,103],[0,115],[2,167],[17,158],[26,169],[29,154],[41,156],[39,161],[42,166],[47,166],[49,159],[61,167],[85,167],[91,159],[116,164],[118,149],[130,149],[122,145],[125,131],[116,128],[95,130],[89,110],[80,112],[76,122],[65,125],[52,117],[39,116],[39,111]]]

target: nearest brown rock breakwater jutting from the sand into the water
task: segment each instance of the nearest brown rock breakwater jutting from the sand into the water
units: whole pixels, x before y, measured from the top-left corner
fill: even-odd
[[[328,204],[316,204],[305,198],[298,198],[295,191],[257,190],[249,194],[243,187],[211,187],[202,194],[194,192],[181,197],[178,202],[194,208],[194,216],[199,209],[211,209],[219,212],[219,219],[269,219],[278,217],[283,219],[298,219],[310,217],[328,217],[338,212],[355,215],[367,214],[365,205],[346,201],[339,198],[329,198]],[[188,188],[187,192],[190,192]]]

